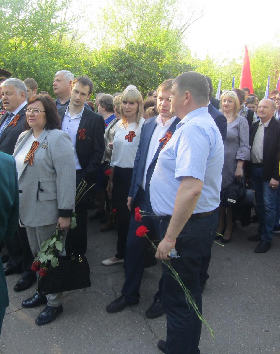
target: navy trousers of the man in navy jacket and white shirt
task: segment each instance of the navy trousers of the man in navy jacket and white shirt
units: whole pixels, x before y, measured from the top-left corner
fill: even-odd
[[[142,188],[139,191],[133,202],[134,207],[139,206],[140,210],[147,210],[145,202],[145,192]],[[125,282],[122,288],[122,294],[128,302],[139,302],[140,298],[140,285],[145,265],[145,256],[147,248],[152,245],[146,237],[138,237],[135,232],[136,229],[144,225],[149,230],[148,237],[151,240],[159,240],[159,222],[158,217],[144,216],[140,222],[135,221],[134,209],[131,211],[129,231],[127,235],[127,246],[125,249]],[[155,300],[161,300],[161,285],[155,295]]]

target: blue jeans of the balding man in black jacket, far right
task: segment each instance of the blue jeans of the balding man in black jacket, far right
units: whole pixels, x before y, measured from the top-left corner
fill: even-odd
[[[271,242],[276,216],[277,189],[270,188],[270,181],[263,181],[262,175],[262,166],[251,167],[250,180],[256,196],[255,211],[259,222],[258,232],[263,241]]]

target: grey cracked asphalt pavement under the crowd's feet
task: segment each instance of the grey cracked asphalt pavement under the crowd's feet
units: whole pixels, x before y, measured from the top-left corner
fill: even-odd
[[[90,215],[93,211],[90,211]],[[116,252],[116,232],[99,232],[98,221],[88,222],[91,287],[64,293],[63,313],[45,326],[35,325],[44,306],[24,309],[21,303],[35,293],[16,293],[20,275],[7,277],[10,306],[0,337],[0,354],[159,354],[157,342],[166,337],[166,317],[145,318],[161,276],[161,264],[147,268],[138,305],[111,314],[106,306],[121,295],[123,265],[103,266]],[[271,249],[254,253],[256,242],[247,236],[257,224],[238,226],[232,241],[213,244],[210,278],[203,292],[203,316],[215,342],[202,328],[201,354],[280,353],[280,237]]]

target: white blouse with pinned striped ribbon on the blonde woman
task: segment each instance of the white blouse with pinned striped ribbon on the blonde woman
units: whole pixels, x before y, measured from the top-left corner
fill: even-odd
[[[144,122],[141,118],[138,125],[130,123],[126,129],[121,121],[117,122],[110,166],[133,167]]]

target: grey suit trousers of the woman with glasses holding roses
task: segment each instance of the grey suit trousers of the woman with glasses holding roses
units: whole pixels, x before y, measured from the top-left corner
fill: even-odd
[[[55,228],[56,228],[56,224],[44,225],[38,227],[26,226],[26,233],[29,241],[29,246],[33,255],[35,255],[37,252],[40,251],[41,244],[54,233]],[[64,248],[65,238],[63,238],[62,240],[62,244],[63,244],[63,249],[60,252],[60,255],[66,256],[66,252]],[[38,282],[38,273],[36,274],[37,274],[37,282]],[[54,307],[60,306],[62,303],[62,296],[63,296],[63,292],[47,295],[48,306],[54,306]]]

